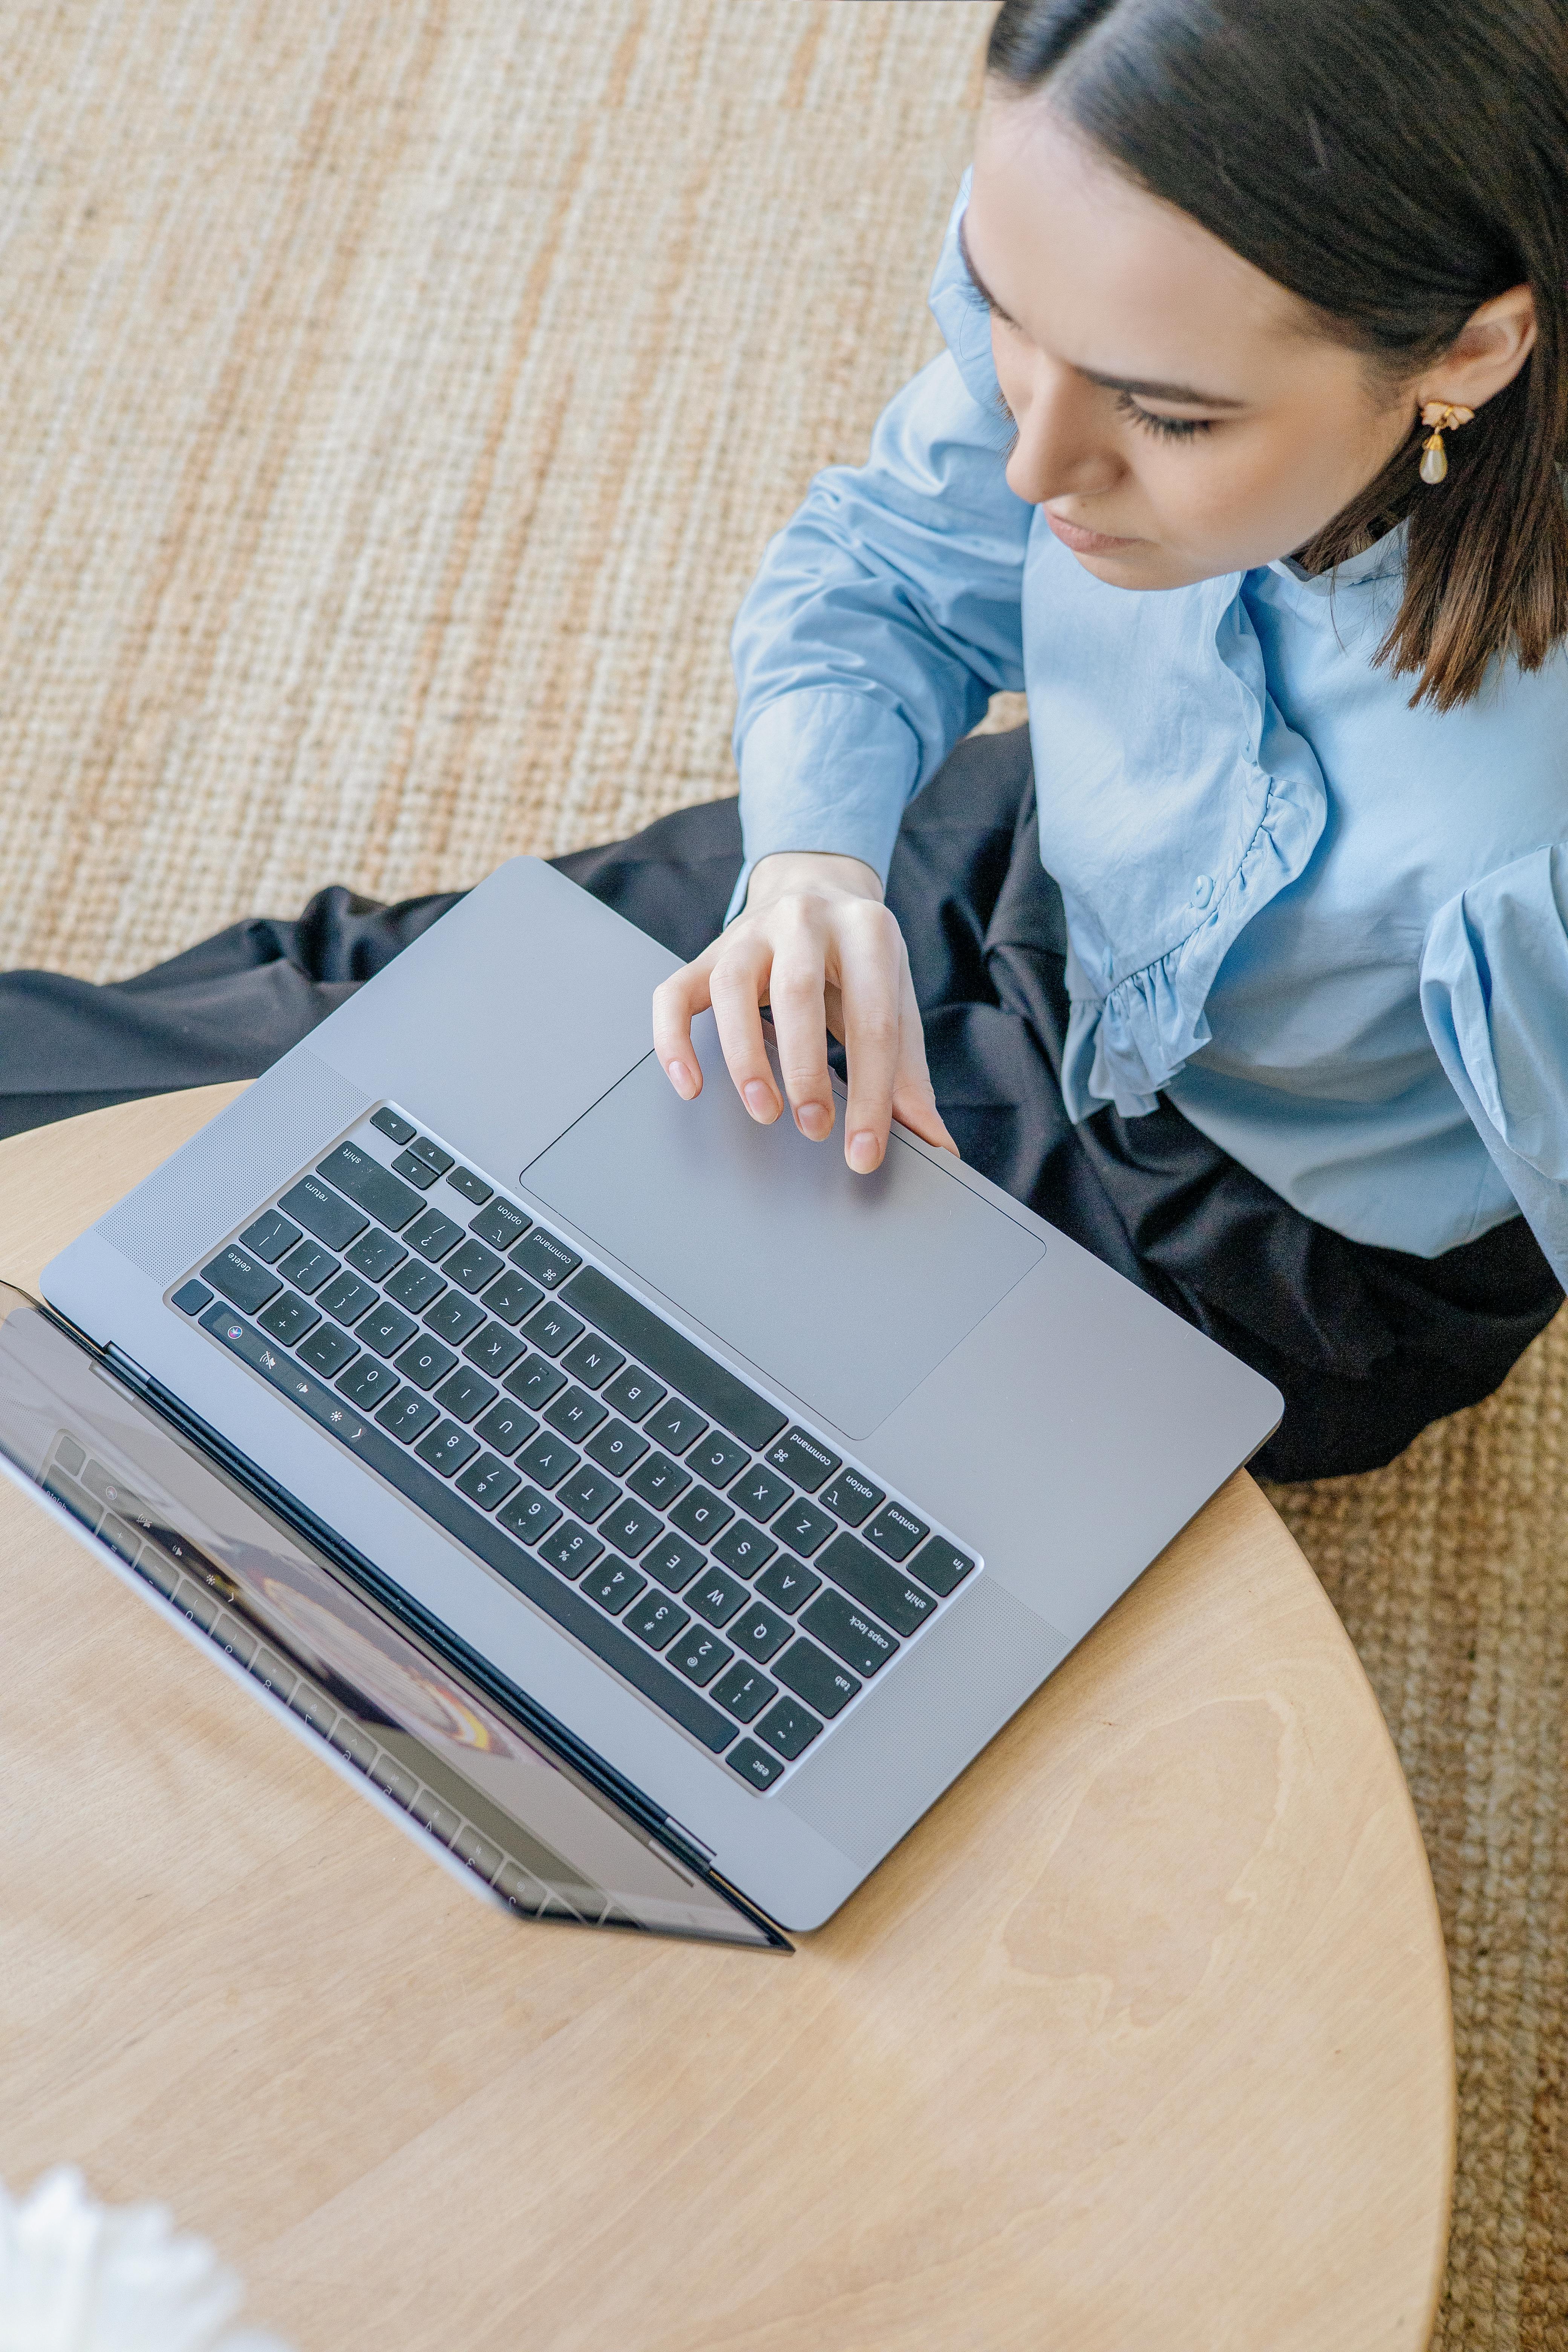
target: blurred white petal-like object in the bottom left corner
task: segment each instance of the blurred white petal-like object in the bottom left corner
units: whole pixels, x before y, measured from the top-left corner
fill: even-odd
[[[0,2352],[289,2352],[226,2333],[244,2286],[167,2206],[101,2206],[75,2166],[0,2187]]]

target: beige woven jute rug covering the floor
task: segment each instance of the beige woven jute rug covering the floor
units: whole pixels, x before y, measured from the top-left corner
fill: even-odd
[[[110,978],[733,790],[729,623],[938,348],[987,24],[12,0],[0,957]],[[1448,1929],[1443,2347],[1568,2347],[1566,1388],[1559,1324],[1392,1470],[1276,1494]]]

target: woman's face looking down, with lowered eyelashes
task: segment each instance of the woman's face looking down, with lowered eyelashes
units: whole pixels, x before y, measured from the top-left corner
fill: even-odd
[[[1415,426],[1415,386],[1105,162],[1041,99],[980,118],[964,249],[1018,442],[1009,487],[1117,588],[1291,555]]]

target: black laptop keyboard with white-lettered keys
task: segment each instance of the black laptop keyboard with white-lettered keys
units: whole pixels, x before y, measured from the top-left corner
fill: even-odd
[[[759,1792],[978,1566],[393,1105],[167,1296]]]

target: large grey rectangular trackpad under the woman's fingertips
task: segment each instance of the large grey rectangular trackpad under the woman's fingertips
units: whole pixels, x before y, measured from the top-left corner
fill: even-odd
[[[867,1437],[1044,1244],[898,1138],[875,1176],[757,1127],[705,1021],[708,1082],[682,1103],[649,1054],[524,1183],[759,1371]]]

